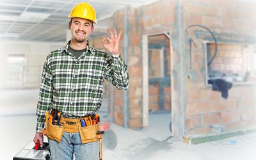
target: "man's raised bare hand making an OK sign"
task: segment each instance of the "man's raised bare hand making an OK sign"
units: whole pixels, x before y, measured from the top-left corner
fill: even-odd
[[[102,39],[102,44],[105,47],[105,49],[110,52],[111,54],[118,55],[120,54],[119,51],[119,42],[121,38],[122,31],[119,31],[118,35],[116,33],[116,29],[113,28],[114,34],[112,34],[111,29],[108,28],[109,37]]]

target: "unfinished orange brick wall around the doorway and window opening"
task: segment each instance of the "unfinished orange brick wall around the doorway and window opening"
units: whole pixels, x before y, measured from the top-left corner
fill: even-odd
[[[176,0],[162,0],[156,3],[142,6],[141,8],[126,8],[127,26],[124,26],[125,10],[120,10],[113,15],[113,21],[109,26],[115,26],[117,30],[127,29],[128,67],[130,76],[129,98],[129,127],[141,128],[142,118],[142,44],[141,36],[145,34],[162,33],[172,31],[172,58],[168,62],[166,74],[172,76],[171,87],[164,87],[164,108],[170,106],[172,101],[172,125],[173,135],[183,134],[201,135],[211,133],[212,125],[219,125],[223,131],[234,131],[255,124],[255,84],[234,84],[229,90],[228,99],[223,99],[220,92],[214,92],[211,85],[206,83],[207,65],[205,56],[207,43],[213,43],[211,35],[202,28],[186,28],[192,24],[200,24],[211,29],[218,42],[223,44],[256,44],[256,6],[248,1],[203,1],[186,0],[180,7],[180,16]],[[179,19],[180,21],[179,22]],[[180,26],[181,25],[181,26]],[[179,32],[179,29],[181,31]],[[179,42],[181,36],[181,44]],[[189,52],[189,37],[193,38],[195,45]],[[101,39],[100,39],[101,40]],[[101,43],[101,42],[99,42]],[[124,53],[124,41],[120,42]],[[181,47],[181,50],[179,49]],[[222,48],[222,49],[221,49]],[[212,62],[213,68],[222,72],[228,70],[237,71],[239,67],[231,67],[230,64],[219,65],[218,61],[225,59],[228,52],[236,52],[237,65],[239,65],[239,53],[219,45],[219,56]],[[222,53],[221,53],[222,52]],[[223,55],[223,56],[221,56]],[[124,58],[124,54],[122,54]],[[167,58],[171,60],[171,58]],[[191,59],[190,59],[191,58]],[[232,59],[232,63],[234,63]],[[170,65],[170,66],[169,66]],[[172,66],[172,68],[171,68]],[[228,67],[229,66],[229,67]],[[241,66],[240,66],[241,67]],[[156,104],[158,86],[149,86],[150,102]],[[172,100],[169,95],[172,92]],[[115,90],[109,92],[111,105],[114,106],[113,115],[115,123],[124,125],[124,94]],[[156,106],[150,106],[154,108]],[[182,109],[182,110],[181,110]],[[180,115],[180,113],[184,115]],[[184,116],[184,119],[181,119]],[[183,124],[184,122],[184,124]],[[184,132],[180,129],[184,128]],[[182,134],[182,135],[181,135]]]

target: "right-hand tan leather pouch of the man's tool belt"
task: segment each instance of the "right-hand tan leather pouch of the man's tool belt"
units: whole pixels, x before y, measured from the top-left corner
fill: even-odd
[[[96,134],[98,131],[99,131],[99,124],[88,125],[86,127],[79,127],[81,143],[90,143],[93,141],[99,141],[99,138],[97,138],[97,134]]]

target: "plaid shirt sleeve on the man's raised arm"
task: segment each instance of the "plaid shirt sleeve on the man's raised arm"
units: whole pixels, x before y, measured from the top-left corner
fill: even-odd
[[[129,88],[129,74],[127,65],[122,61],[121,56],[108,56],[104,68],[104,77],[119,90]]]

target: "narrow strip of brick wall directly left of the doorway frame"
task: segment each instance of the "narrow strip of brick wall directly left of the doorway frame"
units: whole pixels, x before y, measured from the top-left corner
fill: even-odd
[[[138,129],[142,127],[142,20],[140,8],[129,8],[129,127]]]

